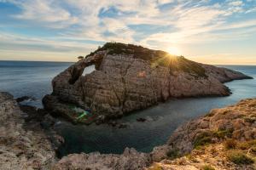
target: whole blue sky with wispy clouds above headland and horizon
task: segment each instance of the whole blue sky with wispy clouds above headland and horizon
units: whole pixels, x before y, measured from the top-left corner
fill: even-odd
[[[256,65],[256,0],[0,0],[0,60],[76,61],[105,42]]]

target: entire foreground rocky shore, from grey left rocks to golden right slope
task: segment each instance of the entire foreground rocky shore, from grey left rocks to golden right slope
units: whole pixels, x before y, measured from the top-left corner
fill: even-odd
[[[33,111],[32,107],[20,107],[10,94],[0,93],[0,169],[253,170],[256,167],[256,99],[243,99],[185,123],[166,144],[156,146],[151,153],[126,148],[122,155],[81,153],[61,160],[56,157],[54,144],[61,138],[53,134],[50,125],[44,125],[54,122],[53,118],[44,111],[33,116]]]

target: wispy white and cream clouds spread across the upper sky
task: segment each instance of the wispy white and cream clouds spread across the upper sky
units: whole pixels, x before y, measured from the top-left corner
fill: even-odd
[[[60,53],[63,50],[89,53],[96,48],[91,42],[132,42],[165,49],[234,39],[232,32],[243,38],[252,34],[256,22],[247,19],[247,14],[256,11],[253,0],[0,0],[0,3],[20,8],[19,14],[9,14],[14,26],[18,20],[27,30],[38,26],[52,32],[51,37],[38,39],[20,32],[13,34],[14,37],[6,36],[8,29],[2,29],[0,43],[5,41],[16,48],[22,44],[22,48],[38,51],[48,47]],[[131,26],[148,26],[148,29]]]

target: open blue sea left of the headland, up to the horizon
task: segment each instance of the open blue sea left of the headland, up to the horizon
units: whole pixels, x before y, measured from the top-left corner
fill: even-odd
[[[41,99],[52,91],[51,80],[72,63],[0,61],[0,91],[17,97],[32,96],[26,104],[42,107]]]

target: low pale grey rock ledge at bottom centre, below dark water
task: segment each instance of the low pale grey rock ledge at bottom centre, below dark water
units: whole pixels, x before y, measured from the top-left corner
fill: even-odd
[[[148,167],[150,157],[137,150],[126,148],[122,155],[103,155],[98,152],[90,154],[72,154],[63,157],[54,169],[90,169],[90,170],[140,170]]]

